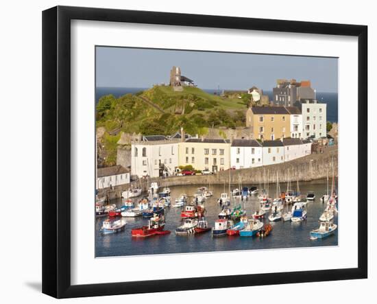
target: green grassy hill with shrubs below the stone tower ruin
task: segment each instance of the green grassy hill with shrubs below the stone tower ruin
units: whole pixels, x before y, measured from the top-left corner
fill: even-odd
[[[101,97],[96,120],[108,132],[120,128],[144,135],[170,135],[183,127],[200,135],[212,126],[245,126],[246,104],[247,100],[211,95],[194,87],[177,92],[170,86],[154,86],[134,95]]]

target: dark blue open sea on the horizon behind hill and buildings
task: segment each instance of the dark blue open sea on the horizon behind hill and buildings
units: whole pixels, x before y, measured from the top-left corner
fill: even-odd
[[[125,94],[135,94],[139,91],[144,91],[148,88],[119,88],[119,87],[97,87],[95,90],[95,101],[104,95],[114,95],[114,97],[121,97]],[[204,89],[209,94],[218,93],[218,89]],[[264,91],[272,100],[272,91]],[[320,93],[317,92],[317,100],[327,104],[327,121],[338,122],[338,93]]]

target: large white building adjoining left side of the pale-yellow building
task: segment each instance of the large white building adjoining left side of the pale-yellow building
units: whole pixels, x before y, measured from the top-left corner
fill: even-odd
[[[132,143],[131,173],[139,178],[175,174],[178,167],[179,139],[163,135],[144,136],[143,141]]]

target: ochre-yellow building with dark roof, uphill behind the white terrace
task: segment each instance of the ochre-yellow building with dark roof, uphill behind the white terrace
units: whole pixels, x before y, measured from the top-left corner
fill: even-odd
[[[291,137],[290,113],[284,106],[253,106],[246,111],[246,126],[252,139],[275,140]]]

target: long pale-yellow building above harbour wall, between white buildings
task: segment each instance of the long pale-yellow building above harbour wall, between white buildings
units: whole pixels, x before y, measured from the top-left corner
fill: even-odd
[[[230,168],[230,141],[191,138],[178,144],[178,165],[216,173]]]

